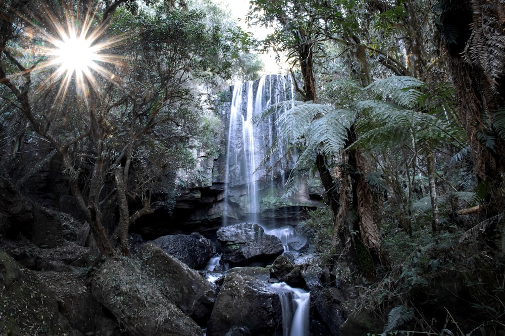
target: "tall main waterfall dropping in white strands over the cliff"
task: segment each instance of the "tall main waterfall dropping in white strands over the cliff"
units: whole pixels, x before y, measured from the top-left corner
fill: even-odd
[[[236,83],[233,87],[225,168],[223,225],[229,218],[248,217],[258,222],[261,197],[279,197],[277,186],[283,186],[287,164],[279,164],[284,155],[283,139],[275,120],[285,109],[279,109],[262,120],[263,113],[274,104],[292,101],[294,85],[279,75],[263,76],[259,81]],[[287,108],[292,106],[288,104]],[[267,166],[262,165],[267,151],[277,143]],[[284,160],[285,161],[285,160]],[[243,197],[245,196],[245,197]]]

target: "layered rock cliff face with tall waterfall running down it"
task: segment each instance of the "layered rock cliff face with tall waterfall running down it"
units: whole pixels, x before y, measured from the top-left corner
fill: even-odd
[[[205,231],[244,220],[296,222],[300,206],[320,205],[319,183],[314,178],[296,178],[294,192],[284,195],[295,155],[287,155],[288,144],[277,128],[277,119],[292,105],[290,81],[266,76],[236,84],[221,99],[216,109],[222,126],[216,139],[218,153],[210,156],[204,150],[195,151],[197,167],[179,173],[181,183],[173,209],[159,207],[136,226],[139,233]],[[169,222],[177,223],[177,229]]]

